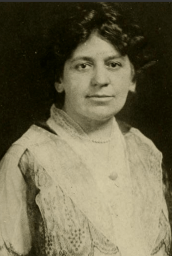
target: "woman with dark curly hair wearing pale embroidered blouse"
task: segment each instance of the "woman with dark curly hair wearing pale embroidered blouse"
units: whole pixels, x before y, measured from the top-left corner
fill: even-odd
[[[114,117],[147,63],[140,29],[114,3],[68,3],[61,15],[62,106],[1,161],[0,255],[169,255],[162,154]]]

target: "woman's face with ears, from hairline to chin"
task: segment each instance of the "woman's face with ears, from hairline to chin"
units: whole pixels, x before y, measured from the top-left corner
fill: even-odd
[[[134,90],[133,75],[128,57],[93,33],[65,62],[56,87],[65,91],[64,110],[76,122],[106,121],[122,109],[128,91]]]

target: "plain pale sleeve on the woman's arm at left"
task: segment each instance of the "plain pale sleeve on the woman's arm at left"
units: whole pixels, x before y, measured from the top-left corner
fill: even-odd
[[[12,146],[0,163],[0,256],[29,255],[32,247],[19,150]]]

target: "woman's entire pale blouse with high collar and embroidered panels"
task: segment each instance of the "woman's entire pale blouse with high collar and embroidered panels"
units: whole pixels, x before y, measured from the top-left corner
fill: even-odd
[[[166,256],[171,235],[162,155],[114,118],[111,138],[93,142],[52,106],[47,124],[1,161],[0,255]]]

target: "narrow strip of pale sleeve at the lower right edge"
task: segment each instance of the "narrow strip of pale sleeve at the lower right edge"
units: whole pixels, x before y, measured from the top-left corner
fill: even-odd
[[[169,223],[169,213],[167,210],[166,200],[163,197],[162,211],[159,217],[159,232],[154,249],[151,255],[154,256],[169,256],[171,247],[171,228]]]

